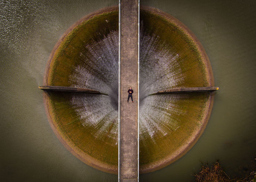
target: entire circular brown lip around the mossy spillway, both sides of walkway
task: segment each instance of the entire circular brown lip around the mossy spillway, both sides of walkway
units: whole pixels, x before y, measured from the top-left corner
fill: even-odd
[[[169,23],[174,24],[175,27],[178,28],[178,30],[182,31],[182,35],[184,34],[185,36],[187,36],[189,39],[192,40],[193,45],[196,47],[196,50],[200,54],[200,60],[202,59],[202,62],[203,62],[203,67],[204,67],[204,71],[205,71],[204,73],[206,75],[205,77],[206,77],[206,82],[207,82],[206,84],[207,84],[207,86],[214,86],[214,77],[212,74],[210,61],[208,59],[208,56],[207,56],[202,44],[197,40],[196,36],[179,20],[177,20],[176,18],[174,18],[173,16],[171,16],[165,12],[160,11],[159,9],[155,9],[152,7],[143,7],[143,6],[140,7],[140,9],[150,12],[153,15],[160,16],[165,21],[168,21]],[[54,62],[53,57],[56,54],[56,51],[58,51],[60,44],[63,41],[65,41],[65,38],[68,36],[68,34],[70,32],[72,32],[79,24],[83,23],[84,21],[93,19],[97,15],[101,15],[103,13],[109,13],[109,12],[113,12],[113,11],[118,11],[118,7],[103,8],[103,9],[100,9],[93,13],[90,13],[89,15],[86,15],[82,19],[78,20],[75,24],[73,24],[71,27],[69,27],[67,31],[65,31],[65,33],[60,37],[59,41],[54,46],[54,48],[49,56],[48,62],[46,64],[46,69],[45,69],[44,85],[50,85],[48,75],[52,71],[51,63]],[[105,19],[104,19],[104,21],[105,21]],[[72,141],[72,139],[70,139],[65,134],[65,132],[63,130],[61,130],[60,125],[58,125],[58,124],[56,124],[56,122],[54,122],[54,119],[55,119],[54,117],[56,117],[56,116],[54,116],[54,114],[52,114],[52,113],[55,110],[54,110],[53,103],[51,103],[52,100],[49,98],[49,94],[50,93],[48,93],[48,92],[44,92],[44,94],[43,94],[46,114],[47,114],[50,126],[52,127],[54,133],[56,134],[57,138],[61,141],[61,143],[63,143],[63,145],[74,156],[76,156],[78,159],[80,159],[87,165],[94,167],[95,169],[98,169],[101,171],[105,171],[105,172],[112,173],[112,174],[117,174],[117,165],[109,164],[105,161],[98,160],[97,158],[94,158],[91,155],[87,154],[85,151],[80,149],[74,143],[74,141]],[[209,99],[207,100],[207,102],[204,103],[205,105],[204,105],[204,110],[202,110],[202,119],[200,119],[200,122],[202,122],[202,125],[200,126],[200,128],[198,130],[193,131],[193,133],[191,134],[192,135],[191,137],[186,138],[187,144],[182,145],[182,147],[180,147],[178,150],[175,150],[174,153],[172,153],[170,155],[165,155],[164,157],[162,157],[159,160],[153,161],[151,163],[147,163],[146,165],[140,165],[140,173],[141,174],[161,169],[161,168],[169,165],[170,163],[173,163],[174,161],[176,161],[177,159],[179,159],[183,155],[185,155],[193,147],[193,145],[197,142],[197,140],[202,135],[204,129],[206,128],[207,122],[210,118],[212,106],[213,106],[213,99],[214,99],[214,94],[211,94],[209,96]],[[102,154],[100,154],[100,155],[106,155],[106,153],[103,154],[103,151],[102,151]],[[140,160],[140,161],[142,161],[142,160]]]

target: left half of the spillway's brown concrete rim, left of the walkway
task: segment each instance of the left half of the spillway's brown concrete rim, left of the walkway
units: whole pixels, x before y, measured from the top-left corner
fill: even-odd
[[[60,46],[60,43],[65,39],[65,37],[68,35],[68,33],[71,32],[77,25],[79,25],[83,21],[87,21],[89,19],[92,19],[94,16],[101,15],[103,13],[113,12],[113,11],[118,11],[118,6],[102,8],[95,12],[92,12],[92,13],[84,16],[80,20],[76,21],[76,23],[74,23],[71,27],[69,27],[67,29],[67,31],[65,31],[63,33],[63,35],[60,37],[60,39],[55,44],[52,52],[50,53],[49,59],[46,63],[46,69],[44,72],[44,85],[48,85],[48,73],[49,73],[49,70],[51,69],[50,63],[52,62],[53,56],[54,56],[57,48]],[[84,153],[84,151],[79,149],[79,147],[75,146],[74,143],[63,134],[63,131],[60,131],[58,129],[58,126],[54,125],[53,118],[51,117],[51,112],[52,112],[53,108],[51,108],[49,105],[49,96],[46,91],[44,91],[44,93],[43,93],[43,100],[44,100],[45,111],[46,111],[46,115],[47,115],[49,124],[50,124],[54,134],[57,136],[59,141],[66,147],[66,149],[68,151],[70,151],[80,161],[86,163],[87,165],[89,165],[95,169],[98,169],[98,170],[101,170],[101,171],[104,171],[104,172],[107,172],[110,174],[117,174],[117,166],[116,165],[109,165],[107,163],[99,161],[98,159],[95,159],[95,158],[91,157],[90,155]]]

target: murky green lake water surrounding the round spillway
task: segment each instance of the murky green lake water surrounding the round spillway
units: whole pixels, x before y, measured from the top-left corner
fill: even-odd
[[[216,92],[196,145],[140,181],[193,181],[201,163],[220,160],[231,177],[254,160],[256,2],[141,1],[183,22],[203,44]],[[0,177],[4,181],[117,181],[59,142],[42,103],[44,69],[54,44],[78,19],[118,1],[0,1]]]

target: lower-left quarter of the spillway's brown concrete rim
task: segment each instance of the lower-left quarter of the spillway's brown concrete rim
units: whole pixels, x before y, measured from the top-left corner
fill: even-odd
[[[79,147],[77,147],[67,136],[65,136],[63,131],[60,131],[58,126],[54,124],[54,119],[51,117],[51,112],[53,108],[49,105],[48,92],[43,93],[43,100],[50,127],[52,128],[54,134],[59,139],[59,141],[64,145],[64,147],[69,152],[71,152],[71,154],[73,154],[76,158],[86,163],[87,165],[106,173],[117,174],[117,165],[109,165],[107,163],[103,163],[102,161],[99,161],[98,159],[91,157],[90,155],[84,153],[84,151],[79,149]]]

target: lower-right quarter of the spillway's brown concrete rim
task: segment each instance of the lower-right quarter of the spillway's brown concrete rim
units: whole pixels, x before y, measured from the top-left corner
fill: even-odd
[[[203,131],[205,130],[205,128],[207,126],[208,120],[210,119],[213,104],[214,104],[214,94],[210,93],[210,99],[208,100],[208,104],[207,104],[208,107],[206,107],[205,111],[204,111],[202,126],[200,127],[199,130],[195,130],[191,134],[192,137],[190,139],[188,139],[188,141],[190,141],[190,142],[187,143],[187,145],[180,147],[176,151],[176,153],[169,155],[162,160],[155,161],[153,163],[140,166],[140,171],[139,171],[140,174],[150,173],[150,172],[154,172],[159,169],[162,169],[162,168],[172,164],[173,162],[177,161],[178,159],[183,157],[185,154],[187,154],[188,151],[192,149],[192,147],[196,144],[196,142],[199,140],[199,138],[203,134]]]

